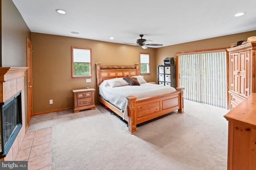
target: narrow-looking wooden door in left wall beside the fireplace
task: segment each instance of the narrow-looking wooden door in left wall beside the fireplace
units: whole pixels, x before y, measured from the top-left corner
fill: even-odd
[[[33,115],[33,98],[32,98],[32,43],[27,38],[27,92],[28,92],[28,123]]]

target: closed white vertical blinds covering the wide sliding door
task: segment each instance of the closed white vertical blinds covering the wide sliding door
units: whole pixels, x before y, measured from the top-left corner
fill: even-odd
[[[227,108],[226,52],[179,55],[178,71],[185,99]]]

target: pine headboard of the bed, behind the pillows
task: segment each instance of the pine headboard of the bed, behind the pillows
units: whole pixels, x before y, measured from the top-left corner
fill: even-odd
[[[140,64],[134,65],[101,65],[101,63],[96,63],[97,69],[97,87],[99,90],[100,84],[104,80],[124,77],[127,74],[129,76],[140,75]]]

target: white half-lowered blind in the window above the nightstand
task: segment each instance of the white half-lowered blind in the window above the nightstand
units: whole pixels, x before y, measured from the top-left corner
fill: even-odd
[[[73,49],[74,63],[90,63],[91,53],[89,49]]]

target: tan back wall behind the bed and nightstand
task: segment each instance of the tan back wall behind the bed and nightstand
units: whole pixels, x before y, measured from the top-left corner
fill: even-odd
[[[92,82],[85,78],[72,79],[71,46],[92,48]],[[33,48],[33,107],[34,113],[72,107],[72,89],[96,89],[96,66],[132,65],[139,63],[140,52],[150,53],[150,75],[147,81],[156,81],[155,49],[142,49],[119,43],[32,33]],[[97,95],[97,94],[96,94]],[[53,104],[49,104],[49,100]]]

